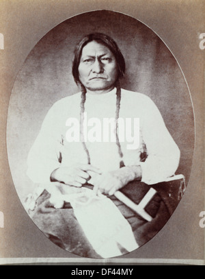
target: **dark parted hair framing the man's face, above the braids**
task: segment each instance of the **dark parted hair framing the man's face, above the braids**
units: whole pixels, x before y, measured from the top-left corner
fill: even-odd
[[[74,81],[79,85],[81,84],[79,80],[79,63],[81,61],[81,54],[83,47],[92,41],[96,41],[102,45],[105,45],[115,56],[117,65],[118,65],[118,77],[119,80],[121,77],[124,76],[125,72],[125,62],[122,52],[120,51],[118,45],[115,43],[113,38],[107,36],[103,33],[92,33],[84,36],[81,41],[77,44],[76,48],[74,49],[74,60],[72,62],[72,75],[74,77]]]

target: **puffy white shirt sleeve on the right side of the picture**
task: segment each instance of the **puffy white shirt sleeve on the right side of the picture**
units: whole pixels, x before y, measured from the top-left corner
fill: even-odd
[[[142,135],[148,157],[140,162],[141,181],[156,184],[174,175],[180,160],[180,150],[169,134],[163,117],[154,102],[148,98],[142,119]]]

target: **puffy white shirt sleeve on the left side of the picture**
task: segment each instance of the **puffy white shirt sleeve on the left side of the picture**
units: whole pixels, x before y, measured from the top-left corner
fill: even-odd
[[[49,110],[29,151],[27,175],[34,183],[51,182],[51,173],[61,164],[61,135],[55,105]]]

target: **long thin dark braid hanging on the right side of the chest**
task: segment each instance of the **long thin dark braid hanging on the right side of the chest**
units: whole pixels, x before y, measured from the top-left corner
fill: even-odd
[[[119,119],[119,114],[120,114],[120,101],[121,101],[121,88],[120,88],[120,82],[119,80],[115,83],[115,86],[117,88],[116,91],[116,111],[115,111],[115,136],[116,136],[116,144],[118,146],[118,154],[120,155],[120,168],[124,167],[124,161],[123,161],[123,154],[122,154],[122,149],[118,137],[118,119]]]

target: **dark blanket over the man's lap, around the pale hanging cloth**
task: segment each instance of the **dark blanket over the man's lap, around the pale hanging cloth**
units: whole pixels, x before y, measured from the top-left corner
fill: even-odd
[[[87,188],[92,188],[90,185],[86,186]],[[131,198],[133,202],[139,204],[149,189],[150,186],[146,184],[131,182],[122,189],[122,192],[127,197]],[[65,202],[63,208],[55,208],[49,201],[50,196],[51,195],[47,191],[44,191],[42,195],[38,197],[36,208],[31,215],[36,226],[38,226],[51,241],[68,252],[79,256],[101,258],[87,240],[83,229],[74,216],[74,210],[70,203]],[[141,216],[137,215],[137,213],[120,202],[115,196],[109,198],[130,224],[139,246],[152,239],[170,217],[167,205],[158,193],[154,195],[146,207],[146,211],[152,216],[152,221],[146,221]]]

